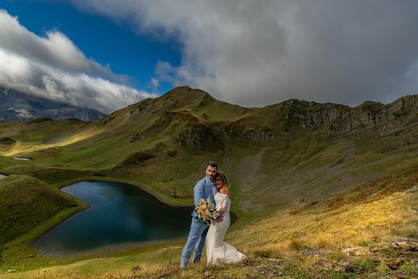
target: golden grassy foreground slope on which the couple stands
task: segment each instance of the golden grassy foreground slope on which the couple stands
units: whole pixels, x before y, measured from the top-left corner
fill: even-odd
[[[180,270],[177,266],[183,243],[173,243],[128,252],[127,255],[120,253],[118,257],[108,255],[24,273],[0,273],[0,278],[44,278],[44,273],[45,278],[73,279],[204,278],[204,272],[214,278],[269,278],[274,263],[283,276],[297,278],[416,276],[418,266],[413,262],[412,265],[405,262],[397,271],[391,271],[381,258],[349,257],[341,250],[351,246],[378,247],[379,243],[416,240],[417,183],[416,169],[412,169],[316,202],[277,211],[245,227],[231,230],[226,241],[249,256],[243,264],[221,267],[192,264],[190,269]],[[396,257],[395,251],[388,253],[385,257]],[[357,273],[330,268],[341,262],[346,266],[366,267]]]

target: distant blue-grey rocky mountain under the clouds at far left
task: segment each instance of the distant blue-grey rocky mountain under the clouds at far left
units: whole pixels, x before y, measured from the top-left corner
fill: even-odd
[[[97,110],[73,107],[46,98],[0,88],[0,120],[27,121],[39,117],[66,119],[74,117],[93,121],[106,116]]]

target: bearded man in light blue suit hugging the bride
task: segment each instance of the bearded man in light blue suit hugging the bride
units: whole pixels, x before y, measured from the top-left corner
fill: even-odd
[[[206,177],[196,183],[194,186],[194,206],[196,207],[200,199],[210,199],[213,208],[216,207],[214,196],[218,193],[218,189],[215,186],[215,176],[217,173],[217,163],[210,162],[206,167]],[[219,216],[217,222],[224,220],[222,216]],[[193,262],[199,262],[202,255],[203,246],[205,245],[206,234],[208,234],[209,225],[203,223],[198,217],[196,211],[192,213],[192,226],[190,227],[189,238],[183,253],[181,255],[180,267],[187,267],[189,264],[192,250],[194,249]]]

